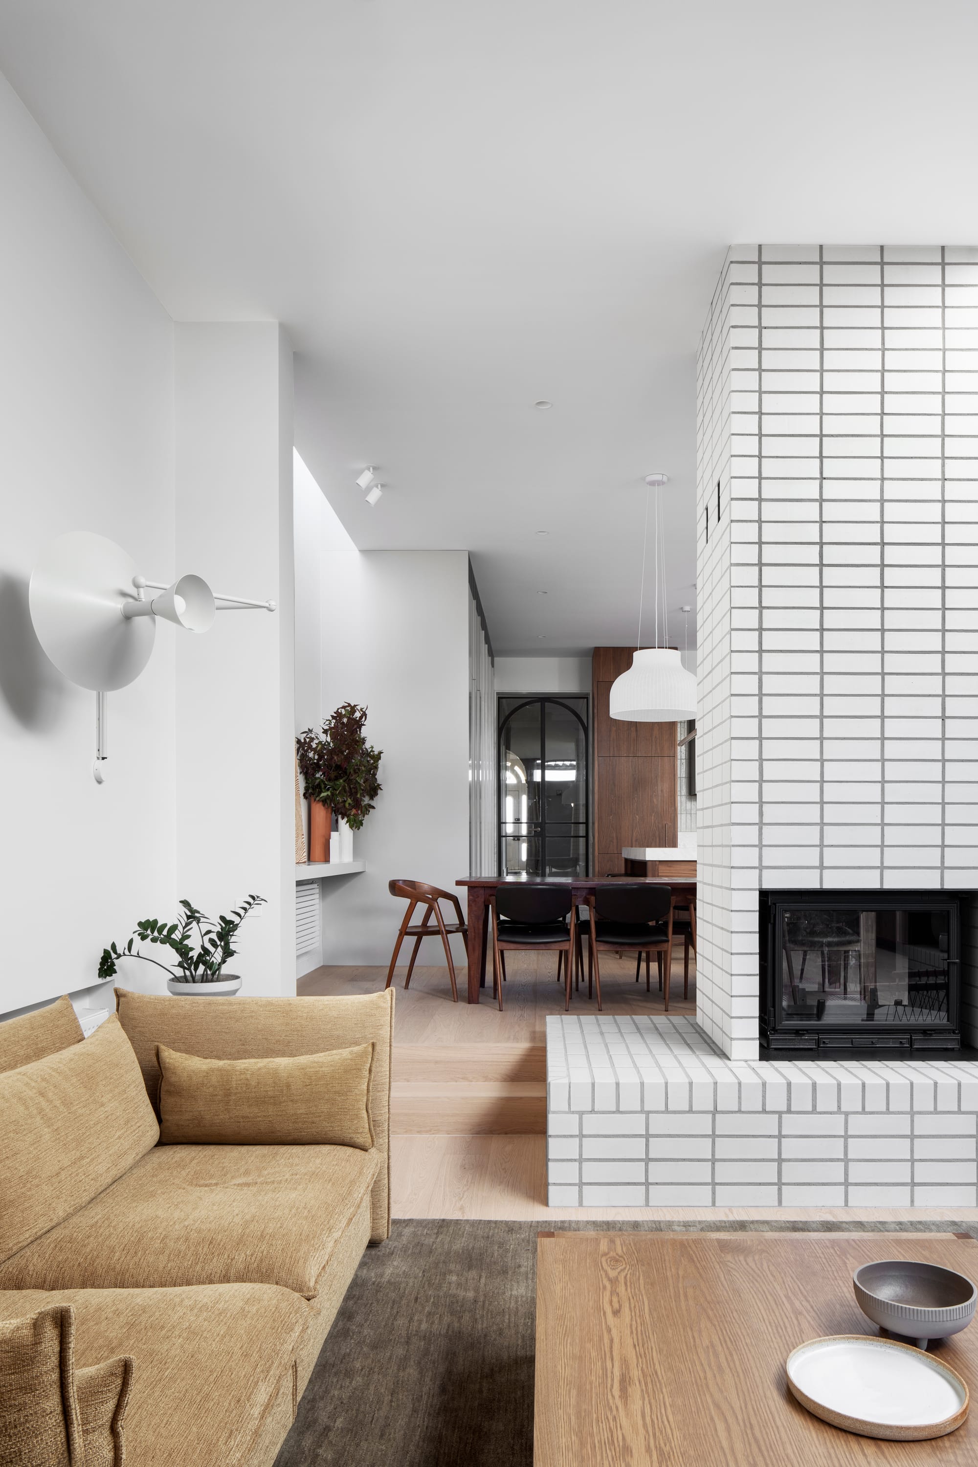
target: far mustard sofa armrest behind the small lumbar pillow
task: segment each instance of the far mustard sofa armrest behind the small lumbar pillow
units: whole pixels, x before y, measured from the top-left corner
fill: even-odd
[[[374,1045],[369,1113],[381,1166],[371,1197],[371,1241],[390,1234],[390,1058],[394,990],[361,998],[180,999],[116,989],[116,1011],[158,1111],[155,1046],[201,1059],[280,1059]]]

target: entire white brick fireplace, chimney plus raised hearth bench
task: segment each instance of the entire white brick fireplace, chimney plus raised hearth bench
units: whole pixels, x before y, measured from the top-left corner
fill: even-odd
[[[978,1064],[758,1059],[758,893],[963,893],[978,248],[733,246],[698,364],[696,1024],[547,1021],[553,1206],[978,1203]]]

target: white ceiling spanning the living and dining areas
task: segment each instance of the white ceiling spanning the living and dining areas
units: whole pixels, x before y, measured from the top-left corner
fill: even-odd
[[[695,603],[726,245],[975,242],[977,54],[974,0],[0,0],[167,310],[287,326],[353,540],[468,549],[499,653],[633,638],[650,469]]]

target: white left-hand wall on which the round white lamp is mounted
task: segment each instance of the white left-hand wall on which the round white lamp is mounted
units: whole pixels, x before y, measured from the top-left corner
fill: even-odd
[[[45,659],[26,587],[67,530],[173,572],[173,327],[3,78],[0,195],[1,1014],[67,990],[110,1003],[92,989],[103,946],[173,908],[180,634],[160,626],[145,672],[110,695],[95,785],[95,695]]]

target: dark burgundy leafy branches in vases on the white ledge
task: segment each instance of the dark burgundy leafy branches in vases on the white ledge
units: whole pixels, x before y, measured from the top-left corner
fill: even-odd
[[[342,861],[352,860],[350,832],[362,827],[383,788],[377,779],[383,751],[364,738],[365,722],[367,709],[342,703],[318,732],[309,728],[296,739],[299,769],[311,801],[309,829],[317,804],[331,810],[339,819]],[[312,851],[309,860],[315,860]]]

